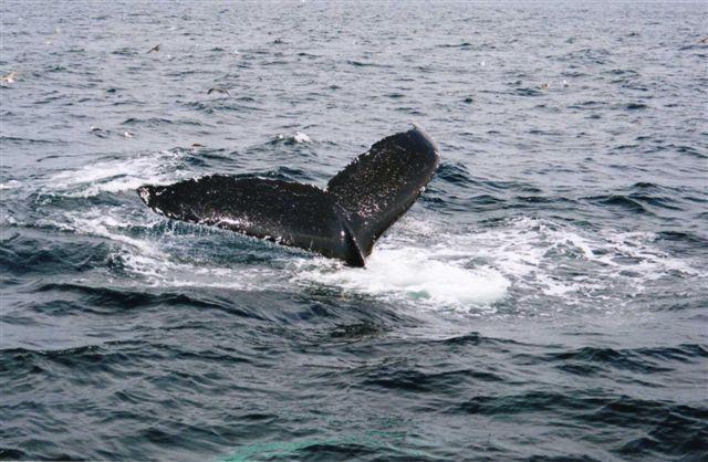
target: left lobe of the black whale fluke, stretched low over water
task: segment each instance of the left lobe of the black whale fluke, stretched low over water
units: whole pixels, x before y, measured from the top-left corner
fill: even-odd
[[[169,186],[138,188],[166,217],[210,224],[322,253],[363,266],[334,197],[311,185],[212,175]]]

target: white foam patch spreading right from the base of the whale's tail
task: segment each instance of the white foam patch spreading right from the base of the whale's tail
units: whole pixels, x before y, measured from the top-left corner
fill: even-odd
[[[403,220],[381,240],[366,269],[322,263],[296,272],[293,281],[444,308],[491,308],[512,296],[514,309],[523,312],[537,309],[527,302],[542,295],[558,300],[558,312],[622,306],[623,294],[639,294],[668,274],[708,277],[653,241],[650,233],[585,232],[542,219],[459,233],[430,220]]]

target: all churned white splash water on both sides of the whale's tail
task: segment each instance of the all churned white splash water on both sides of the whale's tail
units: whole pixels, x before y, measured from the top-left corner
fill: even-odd
[[[170,150],[111,159],[60,172],[50,182],[53,193],[67,197],[170,182],[190,176],[179,170],[185,155]],[[298,292],[314,285],[425,309],[488,312],[502,304],[523,314],[617,307],[675,276],[708,277],[688,259],[662,251],[653,233],[583,229],[540,218],[449,232],[439,219],[413,214],[379,240],[365,269],[204,227],[183,225],[175,233],[164,219],[131,203],[72,210],[51,220],[115,242],[114,256],[135,276],[132,283],[153,286]],[[210,253],[195,246],[201,234],[208,234]],[[253,249],[262,259],[249,256]]]

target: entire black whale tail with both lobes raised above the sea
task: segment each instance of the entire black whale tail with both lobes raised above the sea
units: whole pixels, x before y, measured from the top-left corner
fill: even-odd
[[[325,189],[211,175],[137,189],[155,212],[268,239],[364,266],[376,239],[413,206],[439,164],[417,125],[375,143]]]

